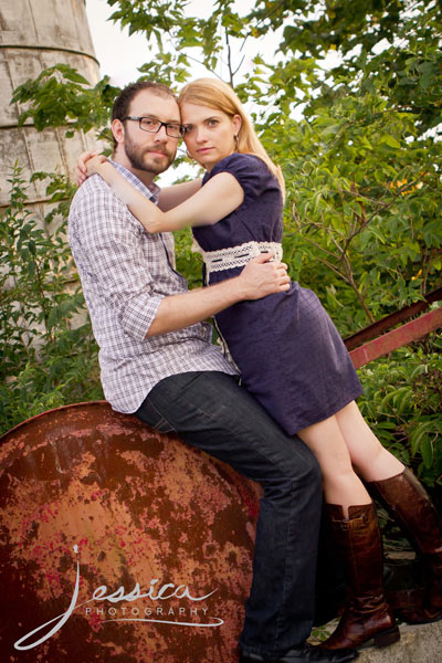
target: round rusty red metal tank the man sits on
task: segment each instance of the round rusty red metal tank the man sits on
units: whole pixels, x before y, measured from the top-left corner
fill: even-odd
[[[255,484],[105,402],[0,442],[2,661],[238,660]]]

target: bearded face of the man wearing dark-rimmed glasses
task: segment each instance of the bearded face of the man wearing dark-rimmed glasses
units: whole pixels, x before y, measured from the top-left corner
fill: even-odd
[[[172,97],[159,96],[147,90],[139,92],[131,101],[127,115],[181,123],[178,104]],[[154,175],[164,172],[175,159],[178,143],[179,138],[166,134],[166,127],[151,134],[140,129],[136,120],[124,122],[124,151],[135,170]]]

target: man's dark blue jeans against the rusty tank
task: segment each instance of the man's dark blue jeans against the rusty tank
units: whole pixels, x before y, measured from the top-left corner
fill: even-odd
[[[262,484],[240,645],[244,653],[272,656],[304,642],[313,622],[322,508],[320,472],[312,452],[222,372],[166,378],[135,414]]]

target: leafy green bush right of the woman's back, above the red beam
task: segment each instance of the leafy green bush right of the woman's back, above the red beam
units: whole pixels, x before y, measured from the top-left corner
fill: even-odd
[[[442,144],[413,131],[380,96],[349,94],[292,135],[285,243],[302,256],[294,276],[322,283],[343,333],[343,297],[364,326],[440,284]]]

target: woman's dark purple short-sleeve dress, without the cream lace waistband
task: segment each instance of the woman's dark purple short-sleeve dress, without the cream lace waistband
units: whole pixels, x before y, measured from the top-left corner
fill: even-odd
[[[250,241],[281,242],[281,189],[264,161],[235,152],[206,173],[203,186],[220,172],[236,178],[244,200],[218,223],[193,229],[202,251]],[[210,272],[207,283],[230,278],[242,269]],[[230,306],[215,323],[242,385],[290,435],[327,419],[362,392],[330,317],[315,293],[296,282],[287,292]]]

